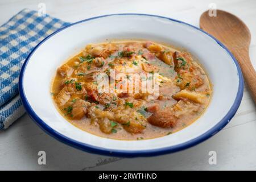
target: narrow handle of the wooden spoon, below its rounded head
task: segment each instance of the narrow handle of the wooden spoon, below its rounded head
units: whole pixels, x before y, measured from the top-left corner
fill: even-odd
[[[256,103],[256,72],[250,61],[249,49],[231,49],[231,52],[240,64],[246,85],[251,91],[251,96],[253,97],[254,103]]]

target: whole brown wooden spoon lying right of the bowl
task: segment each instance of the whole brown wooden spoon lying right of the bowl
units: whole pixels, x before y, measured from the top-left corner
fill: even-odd
[[[209,16],[208,12],[205,11],[201,15],[200,28],[224,43],[236,57],[256,103],[256,72],[249,57],[249,29],[241,19],[226,11],[217,10],[217,16]]]

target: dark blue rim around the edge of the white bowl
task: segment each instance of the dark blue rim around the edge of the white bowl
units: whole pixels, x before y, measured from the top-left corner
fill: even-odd
[[[228,113],[225,115],[224,118],[221,119],[220,122],[217,123],[214,127],[212,127],[210,130],[206,131],[204,134],[200,135],[199,137],[193,138],[187,142],[177,144],[175,146],[170,146],[170,147],[163,147],[163,148],[157,148],[157,149],[152,149],[152,150],[111,150],[109,148],[103,148],[103,147],[97,147],[97,146],[92,146],[90,144],[82,143],[77,140],[73,140],[71,138],[65,137],[65,135],[53,130],[51,127],[49,127],[39,116],[35,113],[35,111],[32,109],[30,104],[27,101],[26,95],[24,94],[24,88],[23,88],[23,76],[24,72],[26,70],[26,66],[28,61],[30,60],[30,57],[32,54],[36,51],[36,49],[46,42],[47,39],[51,38],[51,36],[57,34],[58,32],[64,30],[65,28],[71,27],[75,24],[86,22],[89,20],[93,19],[98,19],[98,18],[104,18],[106,16],[127,16],[127,15],[138,15],[138,16],[154,16],[157,18],[163,18],[167,20],[171,20],[172,22],[177,22],[177,23],[182,23],[187,26],[190,26],[192,28],[195,28],[196,30],[199,30],[203,32],[204,34],[208,35],[210,38],[215,40],[222,48],[226,50],[226,52],[229,53],[229,55],[232,57],[234,63],[236,64],[237,67],[237,72],[238,72],[238,77],[239,77],[239,86],[238,86],[238,91],[237,91],[237,96],[236,100],[234,101],[232,107],[228,111]],[[109,15],[102,15],[102,16],[96,16],[93,18],[89,19],[84,19],[76,23],[71,23],[68,26],[65,26],[63,28],[60,28],[59,30],[53,32],[51,35],[47,36],[45,39],[43,39],[28,55],[27,59],[24,61],[24,64],[22,66],[20,76],[19,76],[19,94],[22,99],[23,105],[25,109],[27,110],[27,113],[30,115],[30,117],[44,130],[46,133],[51,135],[52,137],[56,138],[57,140],[60,140],[61,142],[68,144],[69,146],[79,148],[80,150],[87,151],[87,152],[92,152],[96,154],[102,154],[102,155],[110,155],[110,156],[124,156],[124,157],[137,157],[137,156],[156,156],[156,155],[162,155],[162,154],[167,154],[171,152],[176,152],[180,150],[184,150],[186,148],[195,146],[196,144],[199,144],[203,142],[204,140],[212,137],[214,134],[218,133],[224,126],[228,124],[230,119],[233,118],[234,114],[236,114],[236,111],[238,107],[241,104],[242,96],[243,96],[243,76],[241,72],[241,68],[237,63],[237,60],[235,57],[232,55],[232,53],[226,48],[220,41],[218,41],[216,38],[214,38],[212,35],[209,35],[207,32],[201,30],[200,28],[197,28],[195,26],[192,26],[191,24],[181,22],[180,20],[164,17],[164,16],[158,16],[158,15],[151,15],[151,14],[134,14],[134,13],[129,13],[129,14],[109,14]]]

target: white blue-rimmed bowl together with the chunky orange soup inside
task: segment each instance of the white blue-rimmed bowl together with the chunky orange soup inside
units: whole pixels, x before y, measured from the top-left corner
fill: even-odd
[[[31,118],[81,150],[152,156],[183,150],[236,113],[243,78],[218,40],[178,20],[116,14],[61,28],[20,73]]]

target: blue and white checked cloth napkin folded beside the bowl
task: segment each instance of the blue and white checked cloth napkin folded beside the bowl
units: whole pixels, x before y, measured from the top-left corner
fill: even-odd
[[[41,40],[68,24],[24,9],[0,27],[0,130],[25,113],[18,94],[24,60]]]

